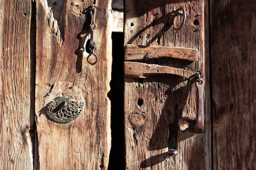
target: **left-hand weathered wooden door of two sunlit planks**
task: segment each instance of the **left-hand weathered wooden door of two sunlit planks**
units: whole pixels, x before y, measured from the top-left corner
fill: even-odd
[[[0,169],[108,168],[111,16],[111,0],[0,2]]]

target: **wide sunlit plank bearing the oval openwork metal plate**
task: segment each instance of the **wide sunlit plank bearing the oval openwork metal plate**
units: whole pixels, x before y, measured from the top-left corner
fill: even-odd
[[[98,62],[90,65],[93,0],[67,0],[60,21],[47,1],[36,1],[36,125],[40,170],[107,170],[110,154],[111,0],[97,0],[94,41]],[[56,25],[57,24],[57,25]],[[46,116],[58,96],[84,102],[79,117],[58,124]]]

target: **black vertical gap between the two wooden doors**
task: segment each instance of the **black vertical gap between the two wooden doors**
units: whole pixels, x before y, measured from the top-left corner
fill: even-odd
[[[112,33],[111,150],[108,170],[125,169],[124,161],[124,33]]]

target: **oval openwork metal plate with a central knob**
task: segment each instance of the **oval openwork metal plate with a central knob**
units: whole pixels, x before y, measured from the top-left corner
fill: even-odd
[[[57,123],[64,124],[73,121],[81,114],[83,103],[63,95],[56,97],[48,108],[48,117]]]

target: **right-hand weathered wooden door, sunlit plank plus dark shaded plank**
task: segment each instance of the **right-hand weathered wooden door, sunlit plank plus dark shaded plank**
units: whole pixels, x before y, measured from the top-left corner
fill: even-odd
[[[211,57],[208,1],[125,1],[126,169],[256,168],[256,3],[210,2]],[[184,18],[181,9],[186,20],[177,29]],[[166,46],[197,49],[199,58],[180,60],[187,53],[184,58],[175,56],[179,49]],[[204,80],[205,119],[200,134],[193,131],[195,81],[187,79],[184,70],[200,71]],[[177,155],[168,154],[168,148],[175,148]]]

